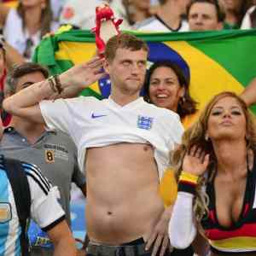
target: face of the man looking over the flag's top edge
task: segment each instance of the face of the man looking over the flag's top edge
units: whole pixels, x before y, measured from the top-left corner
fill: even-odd
[[[189,9],[190,31],[220,30],[222,22],[218,21],[217,10],[212,3],[194,3]]]

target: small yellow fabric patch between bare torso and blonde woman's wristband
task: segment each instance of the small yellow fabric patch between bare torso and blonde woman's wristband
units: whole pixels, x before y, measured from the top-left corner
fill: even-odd
[[[160,196],[165,207],[171,206],[177,198],[177,182],[172,169],[167,169],[160,181]]]

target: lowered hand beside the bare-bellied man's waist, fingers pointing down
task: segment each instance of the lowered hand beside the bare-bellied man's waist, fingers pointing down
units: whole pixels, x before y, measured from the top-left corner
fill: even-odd
[[[148,237],[146,250],[153,247],[152,256],[164,256],[166,249],[170,246],[168,236],[168,224],[172,214],[172,206],[167,207],[162,213],[159,222],[155,225],[154,230]],[[160,252],[160,253],[158,253]]]

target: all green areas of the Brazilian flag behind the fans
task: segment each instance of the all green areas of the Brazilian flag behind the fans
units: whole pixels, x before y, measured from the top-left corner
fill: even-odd
[[[185,41],[212,58],[213,61],[218,62],[243,86],[246,86],[256,76],[255,29],[171,33],[132,31],[131,33],[147,42]],[[48,67],[52,74],[62,73],[72,67],[72,61],[55,60],[55,51],[59,49],[58,44],[61,41],[94,43],[95,35],[90,31],[70,30],[44,38],[35,51],[33,61]],[[101,98],[94,90],[84,91],[83,94]]]

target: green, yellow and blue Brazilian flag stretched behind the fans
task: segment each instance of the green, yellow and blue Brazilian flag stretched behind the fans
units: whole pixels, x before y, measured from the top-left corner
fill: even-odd
[[[256,30],[132,33],[148,43],[148,63],[168,59],[183,68],[190,79],[191,96],[200,103],[198,108],[223,90],[240,93],[256,77]],[[34,61],[48,67],[50,73],[61,73],[95,54],[93,34],[70,30],[44,38]],[[83,95],[104,98],[109,93],[110,81],[102,79]]]

